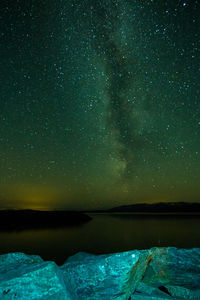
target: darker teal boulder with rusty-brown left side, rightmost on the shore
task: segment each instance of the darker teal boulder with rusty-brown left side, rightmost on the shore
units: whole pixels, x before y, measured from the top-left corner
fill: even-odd
[[[200,248],[152,248],[152,260],[143,281],[150,285],[169,284],[188,289],[200,287]]]

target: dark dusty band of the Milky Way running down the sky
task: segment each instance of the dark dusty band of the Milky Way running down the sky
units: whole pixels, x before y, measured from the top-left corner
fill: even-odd
[[[133,108],[126,93],[130,85],[134,84],[131,75],[133,70],[126,57],[126,49],[115,40],[120,26],[118,18],[121,7],[116,1],[95,3],[94,6],[89,4],[90,26],[95,36],[92,46],[102,58],[107,76],[105,92],[109,98],[108,122],[121,144],[120,159],[125,161],[127,173],[134,164],[134,150],[142,140],[135,133],[137,125],[134,124]]]

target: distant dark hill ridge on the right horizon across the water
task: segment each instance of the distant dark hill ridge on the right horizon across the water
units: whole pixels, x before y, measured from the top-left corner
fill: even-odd
[[[154,204],[131,204],[108,209],[107,212],[144,212],[144,213],[200,213],[200,203],[159,202]]]

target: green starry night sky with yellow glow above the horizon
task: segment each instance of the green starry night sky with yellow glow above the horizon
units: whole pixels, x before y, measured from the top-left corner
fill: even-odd
[[[200,1],[0,2],[0,208],[200,201]]]

